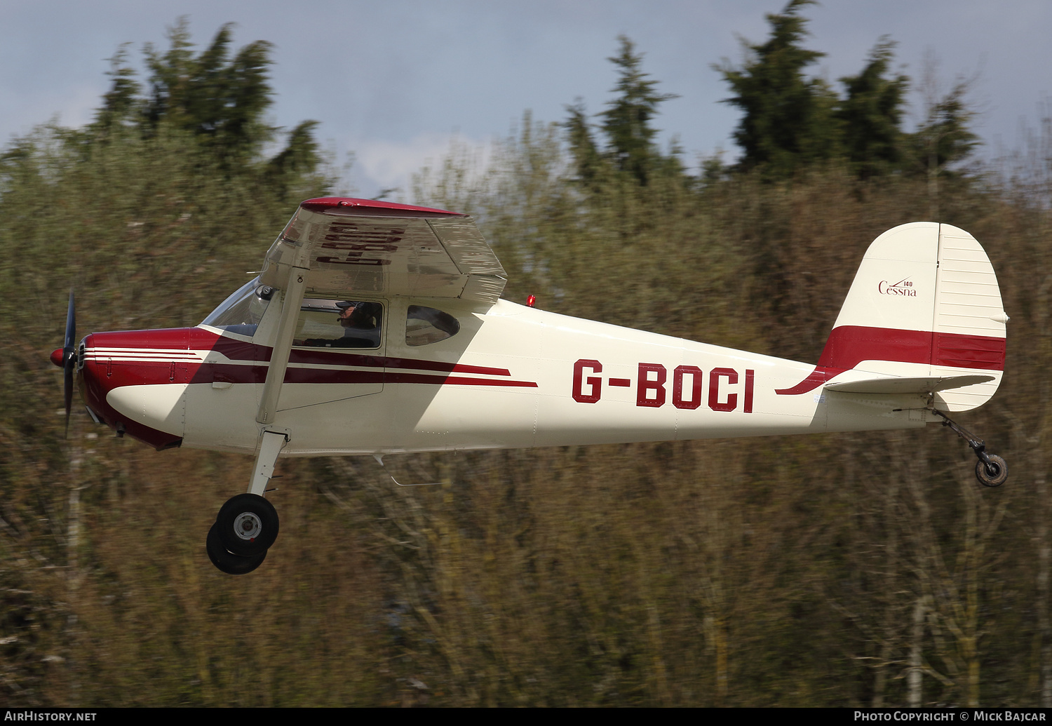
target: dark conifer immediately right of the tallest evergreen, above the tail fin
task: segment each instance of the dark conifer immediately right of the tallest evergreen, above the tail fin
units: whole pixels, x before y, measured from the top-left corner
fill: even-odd
[[[847,98],[836,109],[844,155],[862,178],[888,172],[903,157],[899,123],[909,78],[887,78],[895,43],[887,37],[870,51],[857,76],[841,79]]]

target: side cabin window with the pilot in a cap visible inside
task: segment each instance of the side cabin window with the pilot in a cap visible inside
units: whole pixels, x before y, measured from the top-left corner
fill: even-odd
[[[305,298],[292,345],[308,348],[379,348],[384,306],[364,300]]]

